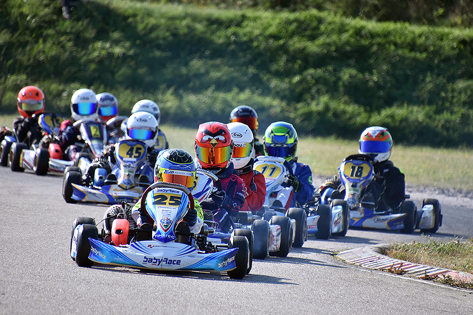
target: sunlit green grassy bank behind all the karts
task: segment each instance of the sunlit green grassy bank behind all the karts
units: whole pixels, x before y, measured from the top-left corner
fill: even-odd
[[[473,146],[472,29],[130,0],[80,1],[68,21],[57,0],[0,10],[3,112],[29,84],[63,113],[91,87],[122,112],[157,100],[179,126],[245,104],[262,125],[287,120],[303,135],[354,139],[382,125],[398,143]]]

